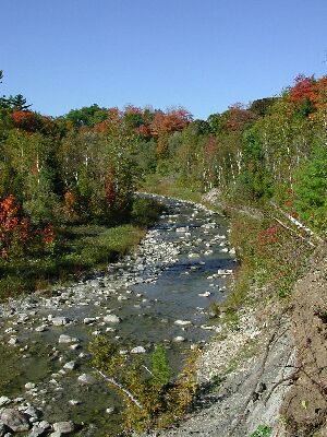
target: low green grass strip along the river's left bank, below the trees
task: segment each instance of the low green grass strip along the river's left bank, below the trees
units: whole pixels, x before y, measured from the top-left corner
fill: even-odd
[[[0,299],[66,285],[102,270],[138,245],[161,211],[160,205],[136,199],[130,223],[113,227],[64,226],[56,229],[56,245],[48,253],[15,261],[0,261]]]

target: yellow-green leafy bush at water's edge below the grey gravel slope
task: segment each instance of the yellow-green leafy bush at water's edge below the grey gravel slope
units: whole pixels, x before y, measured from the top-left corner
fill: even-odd
[[[124,398],[128,429],[143,432],[166,427],[182,417],[192,403],[197,390],[194,380],[196,354],[186,359],[182,371],[171,381],[166,350],[160,345],[149,356],[149,364],[143,355],[120,355],[118,345],[105,336],[96,339],[90,351],[94,366],[113,378],[110,385]],[[141,408],[122,388],[136,398]]]

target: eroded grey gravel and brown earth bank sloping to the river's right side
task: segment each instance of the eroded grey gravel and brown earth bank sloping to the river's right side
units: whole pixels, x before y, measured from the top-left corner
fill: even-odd
[[[217,193],[204,200],[217,204]],[[324,245],[307,252],[286,298],[271,295],[269,284],[250,288],[237,322],[221,327],[198,362],[204,390],[193,412],[154,436],[326,435],[326,261]]]

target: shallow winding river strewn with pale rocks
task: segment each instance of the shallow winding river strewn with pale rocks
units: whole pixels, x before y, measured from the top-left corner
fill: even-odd
[[[89,341],[106,333],[122,353],[162,343],[177,371],[184,351],[209,340],[217,321],[208,307],[228,294],[235,265],[227,222],[193,203],[159,200],[166,211],[158,224],[108,272],[0,308],[0,395],[22,398],[13,405],[31,403],[50,423],[84,424],[80,436],[114,435],[120,399],[93,374]]]

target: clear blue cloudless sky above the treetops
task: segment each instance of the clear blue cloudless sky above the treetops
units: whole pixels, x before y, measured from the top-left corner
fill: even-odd
[[[327,0],[0,0],[0,94],[195,118],[327,74]]]

